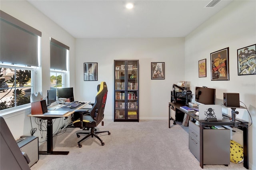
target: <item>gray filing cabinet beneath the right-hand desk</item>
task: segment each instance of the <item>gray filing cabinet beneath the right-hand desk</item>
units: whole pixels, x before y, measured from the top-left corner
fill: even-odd
[[[230,129],[204,129],[204,164],[230,164]],[[200,128],[189,121],[189,149],[200,160]]]

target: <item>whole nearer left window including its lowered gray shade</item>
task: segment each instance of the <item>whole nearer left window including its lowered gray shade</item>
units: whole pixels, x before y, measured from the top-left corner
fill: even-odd
[[[30,103],[42,33],[0,10],[0,110]]]

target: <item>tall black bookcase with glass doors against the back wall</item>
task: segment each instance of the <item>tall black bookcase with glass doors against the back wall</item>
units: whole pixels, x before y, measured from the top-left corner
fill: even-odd
[[[139,60],[114,60],[114,122],[139,122]]]

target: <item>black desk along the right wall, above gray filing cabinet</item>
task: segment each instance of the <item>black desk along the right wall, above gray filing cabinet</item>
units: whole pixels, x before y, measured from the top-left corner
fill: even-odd
[[[196,111],[194,112],[186,112],[182,109],[180,109],[180,106],[184,106],[183,103],[169,103],[169,128],[170,128],[170,106],[175,107],[179,111],[182,111],[183,113],[186,113],[190,117],[194,118],[196,121],[199,121],[199,117],[194,115]],[[230,126],[230,127],[235,127],[243,131],[243,143],[244,143],[244,168],[249,169],[249,158],[248,158],[248,122],[241,121],[236,119],[235,122],[231,121],[231,117],[229,115],[223,115],[222,121],[217,121],[217,122],[207,122],[207,121],[199,121],[199,127],[200,127],[200,166],[201,168],[204,168],[204,142],[203,142],[203,137],[204,137],[204,127],[206,126]]]

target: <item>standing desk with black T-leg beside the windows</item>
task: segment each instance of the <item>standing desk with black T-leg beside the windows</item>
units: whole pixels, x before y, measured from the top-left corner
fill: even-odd
[[[67,155],[69,153],[69,151],[53,151],[52,119],[68,117],[71,114],[73,114],[77,109],[83,108],[88,103],[89,102],[86,101],[84,104],[78,106],[75,109],[70,109],[69,107],[59,108],[60,110],[69,111],[65,115],[28,115],[29,117],[37,117],[40,119],[47,120],[47,151],[39,151],[39,154]],[[58,106],[56,108],[58,108]]]

